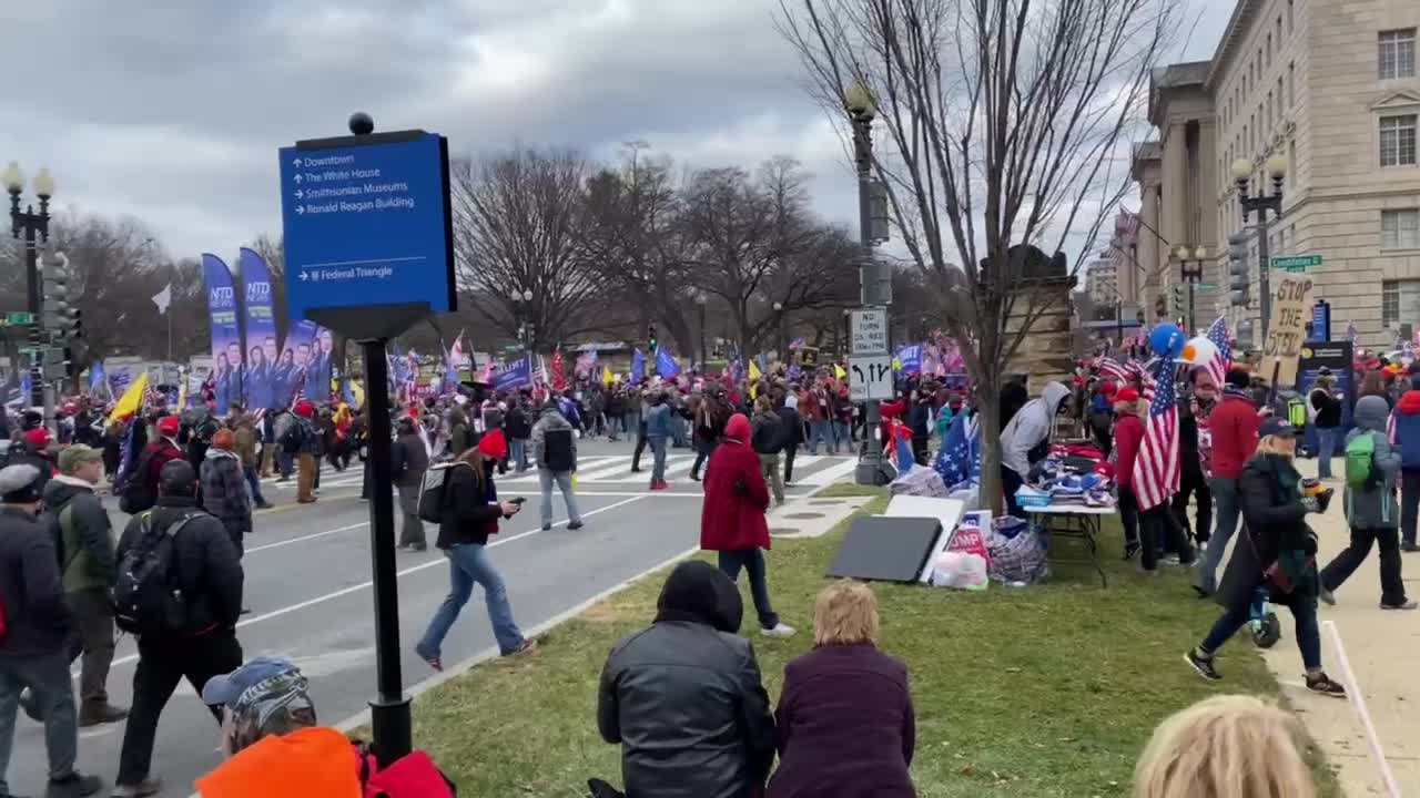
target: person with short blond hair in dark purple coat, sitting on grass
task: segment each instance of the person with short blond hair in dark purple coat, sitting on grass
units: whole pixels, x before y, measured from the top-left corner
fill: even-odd
[[[814,650],[784,667],[770,798],[916,795],[907,666],[878,650],[878,598],[842,579],[814,602]]]

